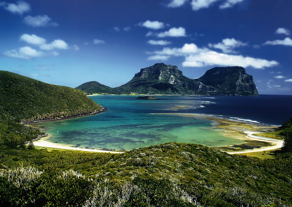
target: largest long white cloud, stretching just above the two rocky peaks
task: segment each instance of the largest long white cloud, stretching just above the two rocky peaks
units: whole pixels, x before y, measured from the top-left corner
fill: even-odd
[[[153,52],[159,56],[185,56],[182,63],[184,67],[203,67],[209,65],[238,65],[242,67],[265,68],[278,65],[276,61],[244,57],[241,55],[228,55],[211,51],[205,47],[198,48],[195,44],[185,44],[181,48],[163,48]]]

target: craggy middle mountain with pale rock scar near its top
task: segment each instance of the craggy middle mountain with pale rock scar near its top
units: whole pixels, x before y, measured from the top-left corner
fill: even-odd
[[[218,95],[217,89],[183,75],[175,65],[156,63],[142,68],[128,83],[117,87],[124,93]]]

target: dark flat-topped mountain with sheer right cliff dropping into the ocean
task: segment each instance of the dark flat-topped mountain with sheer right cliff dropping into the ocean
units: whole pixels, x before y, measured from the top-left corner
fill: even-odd
[[[258,95],[252,76],[246,74],[245,69],[239,66],[215,67],[195,80],[217,88],[223,95]]]

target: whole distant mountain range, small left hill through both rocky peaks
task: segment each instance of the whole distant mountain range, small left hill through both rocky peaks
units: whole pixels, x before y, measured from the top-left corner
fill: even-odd
[[[84,87],[89,85],[90,87]],[[102,87],[101,87],[102,86]],[[108,94],[171,94],[171,95],[258,95],[251,75],[242,67],[216,67],[198,79],[187,78],[175,65],[156,63],[140,72],[124,85],[106,88],[98,82],[87,82],[77,89]]]

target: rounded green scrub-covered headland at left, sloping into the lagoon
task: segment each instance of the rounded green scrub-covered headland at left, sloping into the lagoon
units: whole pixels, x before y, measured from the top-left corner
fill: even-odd
[[[0,71],[0,119],[33,122],[63,119],[104,111],[74,88],[43,83]]]

